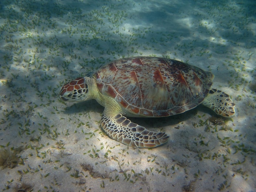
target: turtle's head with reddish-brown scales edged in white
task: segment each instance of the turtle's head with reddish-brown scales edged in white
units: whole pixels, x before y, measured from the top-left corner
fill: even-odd
[[[87,100],[91,98],[88,91],[90,77],[79,77],[62,86],[60,98],[64,101]],[[90,86],[90,85],[89,85]]]

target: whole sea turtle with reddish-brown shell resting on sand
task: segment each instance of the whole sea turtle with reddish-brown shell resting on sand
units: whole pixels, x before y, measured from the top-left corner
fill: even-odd
[[[125,116],[166,117],[186,112],[200,103],[221,116],[235,114],[228,94],[211,89],[214,75],[177,60],[132,57],[101,67],[92,77],[63,85],[64,101],[96,99],[105,107],[100,126],[110,136],[132,147],[166,143],[164,132],[148,131]]]

